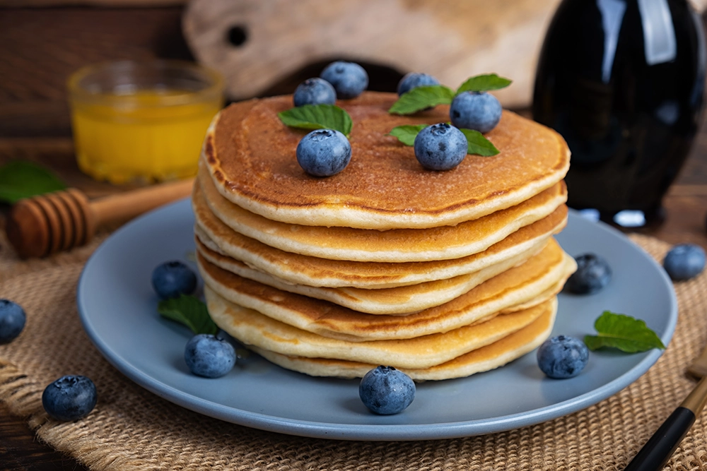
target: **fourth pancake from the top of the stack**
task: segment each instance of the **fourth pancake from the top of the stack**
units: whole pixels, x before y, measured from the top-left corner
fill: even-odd
[[[449,280],[429,281],[418,285],[382,288],[380,290],[365,290],[353,287],[327,288],[294,285],[269,275],[269,273],[250,268],[235,258],[218,254],[216,251],[212,251],[204,244],[201,244],[198,239],[196,243],[199,255],[218,268],[278,290],[324,299],[334,304],[339,304],[339,306],[345,306],[368,314],[408,314],[439,306],[472,290],[482,282],[489,280],[489,278],[520,265],[520,263],[527,261],[528,258],[543,248],[541,246],[534,252],[518,254],[477,272],[459,275]]]

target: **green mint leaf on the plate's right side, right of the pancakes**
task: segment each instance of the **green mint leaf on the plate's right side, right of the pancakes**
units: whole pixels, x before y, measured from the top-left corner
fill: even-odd
[[[658,335],[640,319],[604,311],[594,323],[599,335],[586,335],[584,342],[589,350],[614,347],[622,352],[645,352],[651,348],[665,348]]]

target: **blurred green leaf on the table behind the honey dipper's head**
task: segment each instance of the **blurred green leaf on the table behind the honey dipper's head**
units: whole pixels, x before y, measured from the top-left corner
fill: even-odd
[[[65,188],[66,184],[48,169],[26,160],[13,160],[0,167],[0,201],[6,203]]]

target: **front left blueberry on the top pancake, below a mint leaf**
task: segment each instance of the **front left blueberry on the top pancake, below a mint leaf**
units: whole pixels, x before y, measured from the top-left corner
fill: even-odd
[[[333,129],[312,131],[297,145],[297,162],[315,177],[331,177],[345,169],[350,161],[349,139]]]

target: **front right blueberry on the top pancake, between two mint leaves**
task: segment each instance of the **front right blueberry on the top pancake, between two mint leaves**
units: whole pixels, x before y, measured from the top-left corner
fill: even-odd
[[[415,157],[429,170],[453,169],[467,156],[467,137],[447,123],[433,124],[415,138]]]

